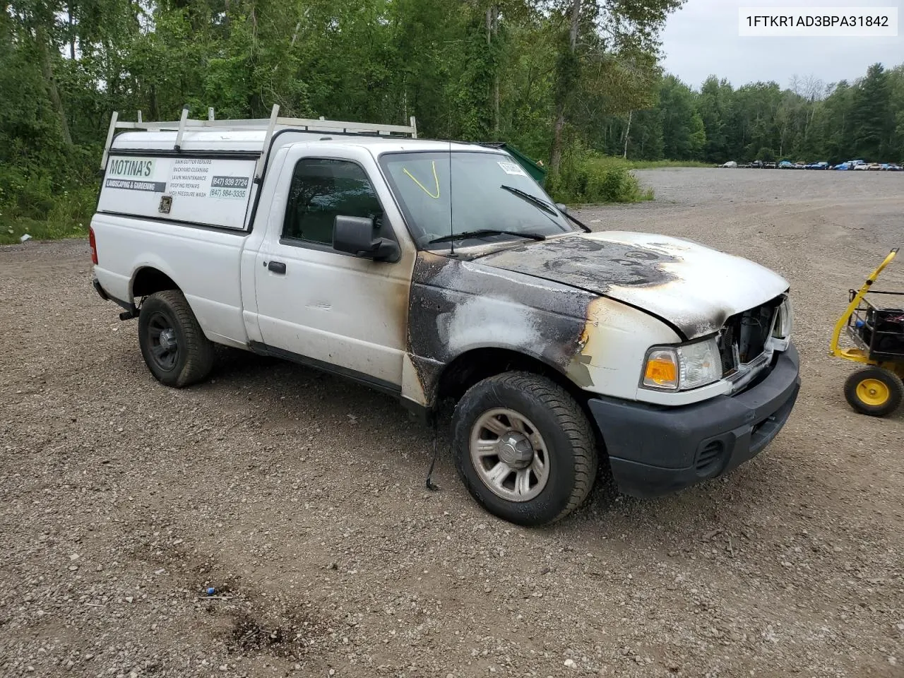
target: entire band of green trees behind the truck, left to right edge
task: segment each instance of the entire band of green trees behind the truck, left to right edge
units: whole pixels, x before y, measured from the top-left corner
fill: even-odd
[[[113,110],[266,118],[276,103],[303,118],[415,116],[426,137],[506,141],[549,167],[554,193],[591,198],[565,184],[583,181],[572,170],[595,154],[904,155],[900,67],[829,87],[711,78],[695,91],[659,65],[660,32],[682,4],[7,0],[0,224],[89,216]]]

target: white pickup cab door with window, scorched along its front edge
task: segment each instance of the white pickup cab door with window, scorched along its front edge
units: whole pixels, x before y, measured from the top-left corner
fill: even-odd
[[[270,353],[400,391],[415,249],[372,156],[288,149],[255,267]],[[372,179],[375,178],[374,179]],[[374,220],[399,243],[394,263],[333,250],[338,215]]]

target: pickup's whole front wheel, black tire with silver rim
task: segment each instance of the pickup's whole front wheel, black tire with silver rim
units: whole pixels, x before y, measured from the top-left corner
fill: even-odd
[[[471,387],[453,412],[452,440],[468,492],[510,523],[564,518],[597,477],[596,438],[583,410],[568,391],[531,372],[504,372]]]

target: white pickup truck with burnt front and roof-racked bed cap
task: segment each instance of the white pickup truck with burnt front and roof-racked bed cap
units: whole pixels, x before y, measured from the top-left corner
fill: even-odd
[[[226,344],[428,421],[452,400],[467,489],[526,525],[570,513],[599,464],[653,496],[777,435],[800,386],[783,278],[688,240],[588,232],[504,151],[416,137],[276,109],[114,116],[94,287],[138,318],[155,378],[202,381]]]

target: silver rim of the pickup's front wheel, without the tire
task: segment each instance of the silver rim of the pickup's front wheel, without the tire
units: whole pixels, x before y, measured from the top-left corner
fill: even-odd
[[[484,485],[510,502],[527,502],[550,478],[550,457],[540,431],[514,410],[496,408],[471,428],[471,462]]]

